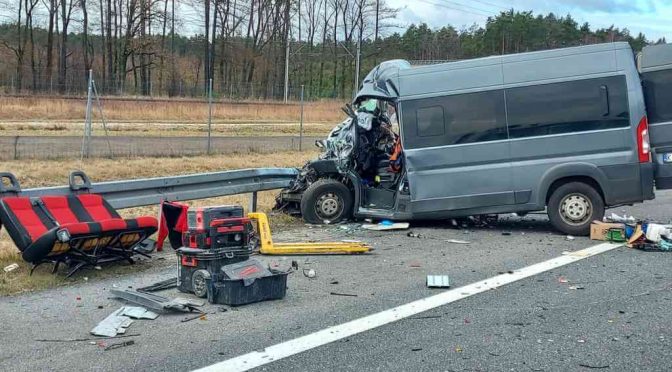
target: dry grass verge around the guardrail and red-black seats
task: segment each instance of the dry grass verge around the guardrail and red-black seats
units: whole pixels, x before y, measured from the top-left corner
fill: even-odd
[[[13,172],[23,188],[63,185],[67,183],[67,176],[71,170],[81,169],[91,179],[107,181],[117,179],[160,177],[199,172],[214,172],[228,169],[257,168],[257,167],[300,167],[306,161],[317,155],[315,151],[278,152],[272,155],[245,154],[200,156],[185,158],[136,158],[125,160],[93,159],[80,162],[79,160],[44,160],[44,161],[7,161],[0,166],[3,171]],[[259,209],[269,211],[274,204],[276,191],[259,194]],[[241,204],[247,206],[246,195],[221,197],[209,200],[198,200],[191,204]],[[137,215],[158,215],[156,206],[133,208],[121,211],[122,215],[131,217]],[[276,216],[271,219],[275,227],[298,223],[287,216]],[[14,294],[40,288],[64,285],[72,281],[82,280],[83,275],[94,278],[101,275],[120,275],[125,271],[135,271],[143,265],[129,267],[115,265],[106,267],[102,271],[87,271],[86,274],[65,279],[64,275],[52,275],[50,265],[38,268],[33,276],[28,276],[29,265],[23,262],[18,250],[7,236],[4,229],[0,230],[0,268],[11,263],[18,263],[20,268],[10,273],[0,271],[0,295]],[[145,265],[146,266],[146,265]]]

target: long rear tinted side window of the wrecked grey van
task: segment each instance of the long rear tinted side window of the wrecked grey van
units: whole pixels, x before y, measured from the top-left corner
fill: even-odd
[[[630,125],[625,76],[506,89],[511,138]]]

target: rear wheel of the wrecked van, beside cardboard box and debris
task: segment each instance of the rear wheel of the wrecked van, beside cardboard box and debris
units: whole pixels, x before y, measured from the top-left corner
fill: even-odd
[[[569,235],[590,234],[590,224],[604,217],[604,200],[593,186],[583,182],[561,185],[548,199],[551,225]]]

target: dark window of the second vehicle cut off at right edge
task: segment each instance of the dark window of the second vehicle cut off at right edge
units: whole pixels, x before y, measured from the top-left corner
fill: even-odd
[[[672,121],[672,70],[642,74],[649,123]]]

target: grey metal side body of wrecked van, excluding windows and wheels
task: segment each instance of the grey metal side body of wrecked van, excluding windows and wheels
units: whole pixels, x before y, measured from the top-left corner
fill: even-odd
[[[422,100],[503,91],[508,106],[507,92],[512,88],[602,77],[625,78],[629,109],[628,126],[524,138],[508,135],[468,144],[408,146],[402,130],[410,210],[399,217],[543,210],[553,182],[567,177],[592,180],[607,205],[653,198],[650,169],[638,160],[636,128],[646,112],[627,43],[493,56],[398,69],[396,74],[388,78],[398,82],[402,128],[416,120],[412,108]]]

